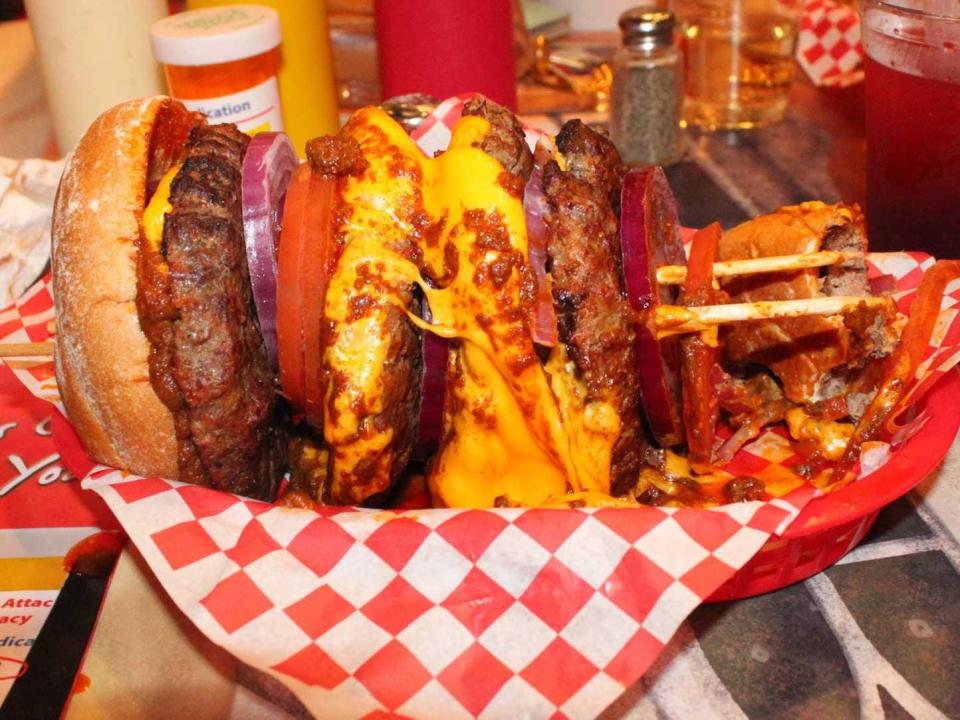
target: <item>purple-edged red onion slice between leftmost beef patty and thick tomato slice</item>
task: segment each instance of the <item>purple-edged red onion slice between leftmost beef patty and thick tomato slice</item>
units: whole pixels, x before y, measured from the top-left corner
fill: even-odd
[[[299,160],[284,133],[255,135],[243,158],[243,240],[267,355],[277,367],[277,242],[283,199]]]

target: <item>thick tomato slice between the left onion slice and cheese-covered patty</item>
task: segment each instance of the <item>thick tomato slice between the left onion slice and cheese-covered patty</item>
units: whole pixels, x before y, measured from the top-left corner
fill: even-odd
[[[334,179],[316,175],[308,164],[298,167],[287,188],[280,233],[280,386],[294,409],[315,427],[323,423],[323,304],[338,255],[333,237],[335,189]]]

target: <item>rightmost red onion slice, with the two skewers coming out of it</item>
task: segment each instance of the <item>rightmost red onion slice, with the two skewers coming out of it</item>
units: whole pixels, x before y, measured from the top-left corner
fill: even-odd
[[[644,321],[655,305],[677,299],[676,288],[658,285],[657,267],[686,264],[677,203],[662,168],[631,170],[624,178],[620,246],[627,297],[641,313],[636,328],[637,375],[644,411],[660,445],[679,445],[684,441],[679,344],[676,337],[657,340]]]

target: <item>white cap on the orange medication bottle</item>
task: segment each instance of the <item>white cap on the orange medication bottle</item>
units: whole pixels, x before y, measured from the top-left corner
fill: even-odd
[[[280,44],[280,16],[261,5],[188,10],[157,20],[150,44],[157,61],[167,65],[242,60]]]

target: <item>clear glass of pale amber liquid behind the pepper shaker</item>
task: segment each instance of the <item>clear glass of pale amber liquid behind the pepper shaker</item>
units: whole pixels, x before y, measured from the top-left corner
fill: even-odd
[[[797,0],[676,0],[684,118],[708,130],[780,120],[793,80]]]

